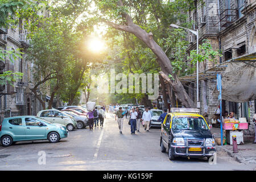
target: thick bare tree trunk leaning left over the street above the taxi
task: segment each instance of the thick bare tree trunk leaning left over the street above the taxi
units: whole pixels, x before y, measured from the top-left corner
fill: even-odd
[[[121,0],[119,1],[119,6],[123,6]],[[116,24],[109,21],[106,21],[106,23],[117,30],[129,32],[135,35],[138,39],[142,40],[142,42],[146,44],[146,46],[150,48],[152,52],[154,52],[155,55],[157,56],[158,59],[156,60],[158,61],[158,64],[162,69],[161,75],[164,78],[164,80],[166,80],[167,82],[169,82],[170,85],[172,85],[172,88],[177,99],[179,99],[181,104],[185,107],[195,107],[195,103],[191,100],[191,98],[189,98],[181,82],[179,80],[174,81],[168,77],[169,75],[172,75],[172,77],[175,78],[174,73],[172,73],[171,62],[168,59],[167,55],[164,53],[163,49],[153,39],[152,33],[148,34],[137,24],[134,24],[133,20],[128,14],[123,13],[122,16],[126,19],[126,25]]]

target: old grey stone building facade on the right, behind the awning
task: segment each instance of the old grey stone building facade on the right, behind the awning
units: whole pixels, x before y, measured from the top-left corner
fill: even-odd
[[[222,51],[217,63],[205,60],[199,64],[199,98],[201,113],[208,113],[208,121],[214,118],[214,111],[220,106],[216,92],[216,75],[225,71],[225,61],[256,52],[256,1],[255,0],[205,0],[195,1],[197,9],[188,13],[187,22],[192,29],[199,30],[199,44],[208,39],[213,49]],[[188,52],[196,49],[196,36],[188,33]],[[189,64],[189,63],[188,63]],[[255,68],[255,62],[251,63]],[[206,72],[207,71],[207,72]],[[206,74],[207,73],[207,74]],[[189,96],[196,102],[196,75],[180,79]],[[222,114],[233,111],[236,118],[245,117],[251,122],[245,135],[254,135],[253,115],[255,100],[230,102],[222,100]]]

